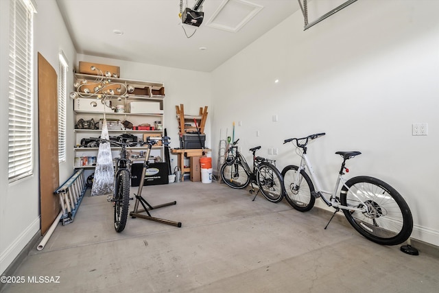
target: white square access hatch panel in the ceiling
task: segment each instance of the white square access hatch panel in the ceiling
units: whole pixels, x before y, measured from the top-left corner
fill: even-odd
[[[262,5],[245,0],[224,0],[206,25],[228,32],[238,32],[262,8]]]

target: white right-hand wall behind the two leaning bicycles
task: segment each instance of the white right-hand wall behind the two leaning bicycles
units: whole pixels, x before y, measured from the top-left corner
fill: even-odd
[[[360,150],[349,174],[393,185],[412,210],[412,237],[439,245],[438,11],[439,1],[357,1],[305,32],[296,12],[213,71],[222,89],[213,91],[213,144],[242,121],[243,150],[262,145],[283,169],[298,163],[284,139],[327,132],[309,145],[327,189],[341,163],[334,152]],[[418,122],[428,136],[412,136]]]

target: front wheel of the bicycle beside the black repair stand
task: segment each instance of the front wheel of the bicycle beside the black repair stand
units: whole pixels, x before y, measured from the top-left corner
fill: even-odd
[[[128,204],[130,204],[130,172],[120,170],[117,173],[115,186],[115,230],[122,232],[128,217]]]

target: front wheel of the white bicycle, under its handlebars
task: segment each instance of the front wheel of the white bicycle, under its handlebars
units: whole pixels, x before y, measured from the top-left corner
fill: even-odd
[[[285,199],[287,200],[287,202],[294,209],[304,212],[309,211],[314,207],[314,204],[316,203],[316,198],[312,195],[312,192],[314,191],[313,182],[311,181],[311,178],[309,178],[305,170],[300,171],[300,176],[302,176],[302,179],[305,179],[309,191],[305,191],[305,194],[303,194],[303,196],[298,196],[298,191],[300,191],[300,187],[297,190],[296,187],[293,186],[294,175],[297,174],[298,169],[299,167],[296,165],[288,165],[283,168],[283,185],[285,187]],[[295,172],[295,174],[290,175],[293,171]],[[303,180],[300,180],[300,182],[303,183]]]

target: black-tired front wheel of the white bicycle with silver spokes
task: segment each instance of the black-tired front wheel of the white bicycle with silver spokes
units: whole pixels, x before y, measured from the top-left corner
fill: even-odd
[[[311,194],[314,185],[305,170],[298,172],[299,167],[289,165],[282,170],[285,198],[298,211],[309,211],[313,208],[316,198]]]

